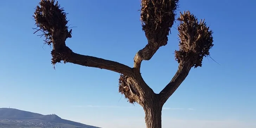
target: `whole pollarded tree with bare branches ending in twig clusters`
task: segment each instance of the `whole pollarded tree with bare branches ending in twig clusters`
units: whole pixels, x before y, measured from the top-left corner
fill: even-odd
[[[147,128],[161,128],[162,106],[184,81],[190,69],[202,65],[203,57],[210,54],[209,50],[213,46],[212,31],[204,20],[198,21],[189,11],[180,13],[177,19],[180,21],[179,51],[175,51],[178,71],[159,94],[155,94],[145,83],[140,73],[141,62],[150,60],[159,47],[167,44],[178,1],[141,0],[140,20],[148,44],[136,53],[133,68],[111,60],[80,55],[66,46],[65,41],[71,38],[72,30],[68,30],[64,9],[54,0],[41,0],[34,12],[34,19],[38,31],[43,32],[46,37],[46,43],[53,46],[53,65],[63,61],[120,73],[119,92],[130,103],[136,102],[143,107]]]

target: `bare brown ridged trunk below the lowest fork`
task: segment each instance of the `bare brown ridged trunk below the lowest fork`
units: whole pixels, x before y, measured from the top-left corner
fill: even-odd
[[[161,128],[162,106],[159,102],[151,102],[143,107],[147,128]]]

